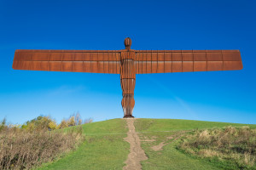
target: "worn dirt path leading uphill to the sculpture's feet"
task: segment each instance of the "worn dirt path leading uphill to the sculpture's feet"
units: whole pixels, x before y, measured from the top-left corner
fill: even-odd
[[[144,150],[141,148],[141,142],[135,131],[135,127],[133,125],[134,118],[127,118],[127,126],[129,131],[127,133],[127,137],[125,141],[130,143],[130,154],[128,155],[128,159],[125,161],[126,166],[123,168],[125,170],[137,170],[142,169],[142,165],[140,161],[147,160],[148,157],[145,155]]]

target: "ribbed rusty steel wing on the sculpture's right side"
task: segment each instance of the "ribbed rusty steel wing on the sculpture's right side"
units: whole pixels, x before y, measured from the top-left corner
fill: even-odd
[[[143,50],[136,60],[137,74],[242,69],[239,50]]]

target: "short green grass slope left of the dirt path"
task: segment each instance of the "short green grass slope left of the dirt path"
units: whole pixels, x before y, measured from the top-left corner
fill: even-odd
[[[78,150],[38,169],[122,169],[130,148],[125,126],[123,119],[85,124],[86,141]]]

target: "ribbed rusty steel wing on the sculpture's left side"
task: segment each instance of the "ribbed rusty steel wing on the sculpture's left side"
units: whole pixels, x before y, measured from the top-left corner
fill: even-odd
[[[16,50],[15,70],[71,71],[119,74],[120,51]]]

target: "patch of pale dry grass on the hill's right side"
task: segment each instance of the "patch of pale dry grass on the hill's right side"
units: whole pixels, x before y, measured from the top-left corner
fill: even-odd
[[[225,127],[187,134],[179,148],[189,154],[229,161],[237,168],[256,166],[256,129]]]

